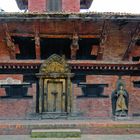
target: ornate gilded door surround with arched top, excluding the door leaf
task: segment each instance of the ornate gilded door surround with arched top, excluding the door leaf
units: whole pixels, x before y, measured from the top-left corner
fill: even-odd
[[[39,73],[36,74],[36,76],[39,78],[39,86],[38,86],[38,98],[37,98],[37,104],[39,108],[39,113],[42,114],[62,114],[62,112],[49,112],[44,111],[44,99],[48,99],[49,93],[45,93],[48,86],[46,86],[48,82],[63,82],[65,86],[65,114],[71,114],[73,110],[73,95],[71,90],[71,77],[74,76],[73,73],[71,73],[70,67],[65,60],[65,57],[60,57],[57,54],[51,55],[47,60],[44,61],[44,63],[41,65]],[[47,82],[45,82],[47,81]],[[45,97],[46,96],[46,97]],[[47,102],[47,101],[46,101]],[[47,103],[46,103],[47,105]]]

